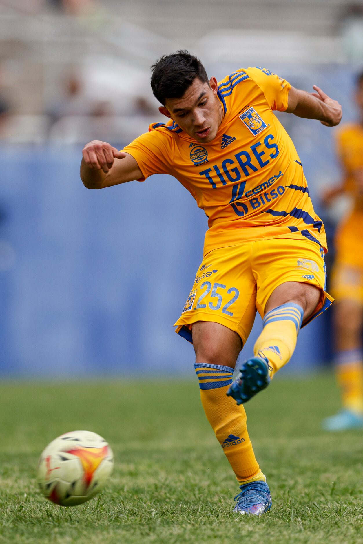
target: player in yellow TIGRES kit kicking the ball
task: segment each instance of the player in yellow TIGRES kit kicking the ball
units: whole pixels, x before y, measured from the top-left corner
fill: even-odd
[[[101,189],[171,174],[204,209],[204,256],[176,332],[193,343],[202,405],[241,489],[235,511],[260,515],[271,496],[242,404],[269,384],[290,359],[300,327],[333,300],[324,290],[324,226],[273,111],[334,126],[341,106],[316,86],[312,94],[294,89],[258,66],[218,83],[187,51],[159,59],[151,87],[169,121],[150,125],[121,152],[91,141],[81,178]],[[256,309],[263,330],[232,382]]]

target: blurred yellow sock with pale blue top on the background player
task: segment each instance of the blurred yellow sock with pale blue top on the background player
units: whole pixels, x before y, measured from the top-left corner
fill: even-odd
[[[335,372],[344,408],[363,412],[363,354],[360,349],[340,351],[335,356]]]

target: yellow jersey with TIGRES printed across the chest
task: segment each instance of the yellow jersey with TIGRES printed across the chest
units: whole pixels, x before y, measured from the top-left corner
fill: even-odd
[[[290,89],[259,66],[237,70],[218,84],[224,117],[213,141],[200,144],[169,121],[153,123],[125,147],[143,174],[138,181],[170,174],[204,209],[204,255],[278,236],[302,236],[327,251],[302,162],[273,113],[286,110]]]

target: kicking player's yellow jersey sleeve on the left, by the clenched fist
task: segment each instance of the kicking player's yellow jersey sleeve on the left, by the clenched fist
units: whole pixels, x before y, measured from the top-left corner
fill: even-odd
[[[151,130],[141,134],[131,144],[124,147],[137,162],[143,177],[137,181],[145,181],[152,174],[169,174],[174,154],[173,137],[162,131]]]

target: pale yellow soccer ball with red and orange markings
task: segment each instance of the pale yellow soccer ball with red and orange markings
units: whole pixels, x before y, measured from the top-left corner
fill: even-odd
[[[37,480],[47,499],[60,506],[76,506],[103,489],[112,469],[112,449],[102,436],[90,431],[67,432],[41,454]]]

